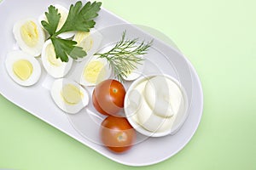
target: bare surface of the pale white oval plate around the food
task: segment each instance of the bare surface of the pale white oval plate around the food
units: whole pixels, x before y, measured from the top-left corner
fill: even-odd
[[[49,4],[59,3],[69,7],[70,3],[75,2],[73,0],[3,0],[0,3],[0,23],[2,23],[0,31],[0,94],[15,103],[15,105],[19,105],[32,115],[37,116],[44,122],[48,122],[113,161],[118,161],[125,165],[143,166],[164,161],[175,155],[189,142],[198,127],[202,114],[203,96],[201,82],[193,66],[176,48],[172,48],[164,42],[154,39],[154,46],[148,53],[148,66],[146,65],[145,74],[165,73],[177,78],[189,97],[189,116],[183,127],[175,135],[144,139],[142,142],[135,144],[131,150],[121,155],[113,154],[102,144],[98,144],[97,128],[102,117],[94,114],[95,110],[91,106],[91,102],[89,107],[78,115],[68,116],[63,114],[50,98],[49,86],[46,83],[50,82],[50,78],[45,71],[39,82],[29,88],[20,87],[8,76],[4,60],[6,54],[16,48],[12,34],[15,21],[26,17],[37,18],[46,11]],[[124,29],[127,31],[128,37],[140,37],[140,39],[145,39],[146,41],[152,39],[145,32],[128,25],[124,20],[119,19],[119,17],[103,8],[96,19],[96,29],[102,31],[104,36],[102,45],[119,40]],[[129,84],[125,86],[128,88]],[[89,88],[88,90],[91,93],[92,89]],[[84,125],[91,126],[88,128]],[[89,135],[89,138],[86,135]]]

